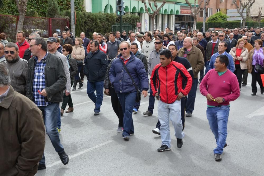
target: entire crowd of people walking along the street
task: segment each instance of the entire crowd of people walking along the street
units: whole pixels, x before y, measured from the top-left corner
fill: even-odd
[[[257,93],[257,82],[264,93],[264,31],[259,27],[205,33],[181,30],[176,35],[170,28],[130,30],[128,36],[126,31],[94,32],[92,39],[84,32],[75,37],[65,27],[61,38],[54,34],[45,40],[40,32],[26,37],[23,31],[17,32],[16,43],[8,42],[4,33],[0,37],[0,127],[8,129],[0,135],[1,156],[6,156],[0,159],[0,175],[46,169],[44,126],[62,163],[69,162],[60,142],[60,118],[67,104],[65,113],[74,111],[70,92],[76,91],[77,84],[78,89],[83,87],[84,75],[88,97],[95,103],[94,115],[100,114],[103,93],[111,96],[119,119],[117,132],[122,132],[124,140],[135,132],[132,115],[138,113],[141,94],[147,97],[149,93],[145,116],[153,115],[158,100],[158,122],[152,130],[161,136],[158,151],[171,150],[169,120],[177,147],[182,147],[185,116],[192,117],[200,84],[208,101],[206,114],[216,140],[216,161],[221,161],[227,146],[229,102],[247,85],[248,73],[252,75],[251,95]]]

